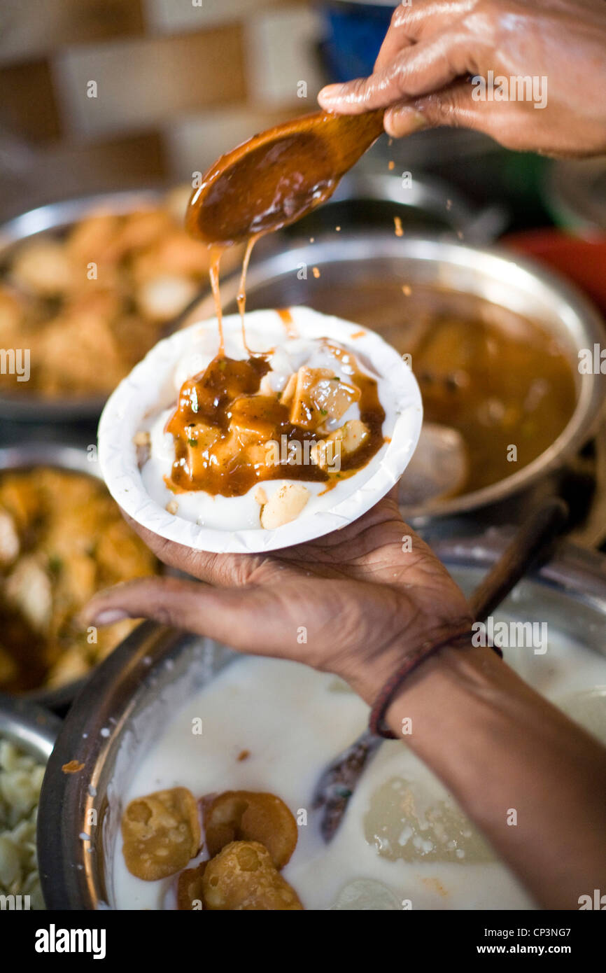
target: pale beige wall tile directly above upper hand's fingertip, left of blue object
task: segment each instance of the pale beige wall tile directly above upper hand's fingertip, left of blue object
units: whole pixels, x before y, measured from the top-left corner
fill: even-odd
[[[251,18],[246,27],[249,98],[257,104],[287,105],[299,101],[301,110],[316,107],[315,95],[323,85],[316,46],[321,20],[310,7],[267,11]],[[298,98],[300,82],[307,97]]]

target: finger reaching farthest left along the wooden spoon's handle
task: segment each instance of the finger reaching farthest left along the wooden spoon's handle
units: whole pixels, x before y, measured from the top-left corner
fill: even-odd
[[[345,115],[388,108],[445,88],[469,73],[468,61],[471,63],[465,30],[444,31],[405,49],[369,78],[329,85],[320,91],[318,101],[325,110]]]

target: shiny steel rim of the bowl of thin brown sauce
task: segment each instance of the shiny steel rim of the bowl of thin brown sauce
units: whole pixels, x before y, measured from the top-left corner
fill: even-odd
[[[315,277],[311,268],[317,267]],[[308,270],[300,279],[300,270]],[[357,234],[320,239],[314,244],[276,254],[251,268],[247,283],[248,310],[307,305],[339,314],[364,280],[424,285],[441,292],[481,298],[522,317],[537,321],[568,350],[577,386],[577,405],[568,425],[552,446],[507,479],[431,507],[405,511],[416,525],[436,518],[455,518],[481,508],[503,504],[531,487],[545,483],[587,442],[596,428],[606,398],[606,382],[599,375],[581,376],[578,351],[603,342],[604,325],[593,306],[571,285],[530,260],[505,250],[446,242],[435,238],[396,237],[393,233]],[[222,287],[226,312],[236,309],[239,280],[230,277]],[[373,311],[373,308],[370,308]],[[196,307],[196,319],[214,314],[212,299]],[[369,307],[365,308],[368,316]],[[193,320],[194,318],[192,318]],[[359,320],[359,319],[358,319]],[[368,320],[361,323],[372,327]],[[379,322],[376,323],[378,330]],[[501,522],[502,523],[502,522]]]

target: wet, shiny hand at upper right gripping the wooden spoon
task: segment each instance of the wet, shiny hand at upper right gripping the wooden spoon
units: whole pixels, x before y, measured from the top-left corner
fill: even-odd
[[[394,11],[373,75],[331,85],[318,100],[342,114],[385,108],[385,130],[397,138],[462,126],[510,149],[600,155],[605,52],[604,0],[413,0]],[[508,81],[537,79],[545,107],[477,100],[470,76],[485,79],[489,71]]]

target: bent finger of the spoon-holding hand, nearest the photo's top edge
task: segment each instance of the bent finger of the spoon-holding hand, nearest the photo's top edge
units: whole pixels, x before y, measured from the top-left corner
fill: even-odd
[[[476,0],[415,0],[410,6],[399,4],[374,62],[374,71],[386,67],[411,44],[451,27],[454,20],[469,13],[475,3]]]

